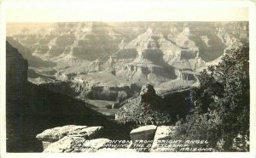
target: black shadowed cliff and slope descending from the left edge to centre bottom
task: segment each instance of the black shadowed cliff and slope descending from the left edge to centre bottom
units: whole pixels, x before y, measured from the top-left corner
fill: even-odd
[[[6,43],[6,124],[8,152],[39,152],[35,138],[50,127],[67,124],[102,126],[106,138],[124,138],[125,131],[84,102],[27,82],[27,61]],[[125,129],[125,128],[123,128]],[[122,130],[123,130],[122,129]],[[109,134],[108,134],[109,133]]]

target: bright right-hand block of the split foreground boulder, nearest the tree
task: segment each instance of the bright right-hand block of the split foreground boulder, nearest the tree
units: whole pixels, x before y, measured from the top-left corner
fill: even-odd
[[[157,127],[156,132],[154,134],[154,141],[151,147],[150,152],[163,152],[171,149],[166,149],[161,147],[163,144],[160,144],[160,140],[170,140],[172,139],[172,135],[175,132],[176,127],[173,126],[160,126]]]

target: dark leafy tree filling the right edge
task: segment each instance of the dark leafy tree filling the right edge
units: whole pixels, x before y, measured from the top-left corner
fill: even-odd
[[[219,150],[231,150],[237,135],[248,137],[249,48],[242,45],[231,52],[201,72],[200,87],[192,92],[194,113],[178,121],[177,136],[207,138],[215,147],[221,140]]]

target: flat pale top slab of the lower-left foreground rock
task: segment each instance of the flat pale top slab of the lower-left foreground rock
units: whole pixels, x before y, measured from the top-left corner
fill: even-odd
[[[103,127],[67,125],[64,127],[54,127],[47,129],[43,133],[39,133],[36,138],[43,141],[44,150],[46,150],[46,148],[48,148],[51,143],[60,141],[59,143],[55,143],[54,146],[63,144],[65,142],[70,142],[70,140],[73,140],[73,137],[75,137],[73,141],[76,141],[77,138],[80,138],[82,141],[83,139],[92,139],[99,137],[102,133],[102,130]],[[68,138],[61,139],[66,136],[68,136]]]

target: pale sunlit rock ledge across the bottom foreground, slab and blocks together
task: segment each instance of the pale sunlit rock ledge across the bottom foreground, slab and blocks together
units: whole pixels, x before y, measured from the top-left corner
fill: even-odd
[[[113,141],[101,138],[103,127],[67,125],[54,127],[39,133],[44,153],[77,153],[77,152],[168,152],[161,147],[162,140],[172,140],[175,126],[148,125],[131,130],[131,140],[125,148],[109,148]],[[169,152],[172,152],[171,150]]]

